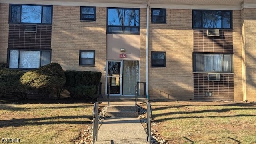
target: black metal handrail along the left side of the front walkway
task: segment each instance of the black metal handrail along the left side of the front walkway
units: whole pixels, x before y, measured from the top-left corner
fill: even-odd
[[[93,137],[92,143],[94,144],[95,141],[98,141],[97,134],[98,134],[98,102],[94,103],[93,111],[92,111],[92,119],[93,119]]]

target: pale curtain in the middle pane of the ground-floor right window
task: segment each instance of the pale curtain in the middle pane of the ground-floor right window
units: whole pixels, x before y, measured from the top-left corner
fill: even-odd
[[[205,72],[221,72],[221,55],[204,55]]]

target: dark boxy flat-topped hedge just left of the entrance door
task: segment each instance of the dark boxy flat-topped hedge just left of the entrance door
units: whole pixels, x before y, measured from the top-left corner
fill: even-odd
[[[72,98],[92,98],[98,92],[101,72],[65,71],[65,88]]]

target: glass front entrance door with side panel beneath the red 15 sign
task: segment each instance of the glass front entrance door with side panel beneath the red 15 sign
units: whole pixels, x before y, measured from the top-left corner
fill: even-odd
[[[108,61],[107,66],[110,95],[135,96],[135,86],[140,80],[139,61]]]

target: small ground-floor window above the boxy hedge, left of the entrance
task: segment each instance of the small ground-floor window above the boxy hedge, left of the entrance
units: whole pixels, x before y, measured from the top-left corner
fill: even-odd
[[[95,50],[80,50],[79,66],[95,65]]]

